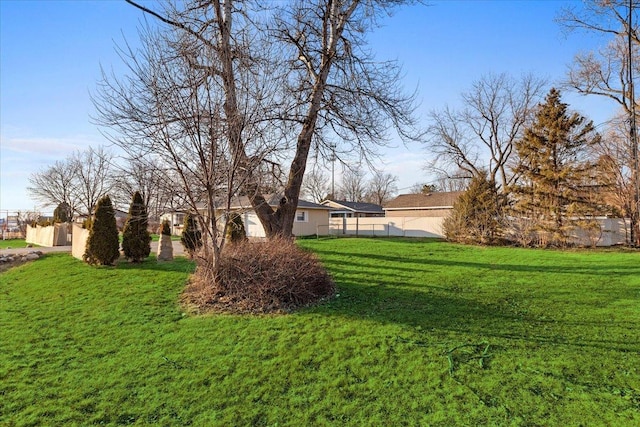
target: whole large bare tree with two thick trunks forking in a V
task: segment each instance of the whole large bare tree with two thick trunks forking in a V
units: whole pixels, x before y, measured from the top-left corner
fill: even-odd
[[[417,136],[414,99],[400,90],[399,67],[376,61],[365,48],[364,34],[376,19],[403,1],[291,2],[278,7],[272,19],[265,11],[258,19],[249,2],[192,2],[181,12],[171,7],[159,13],[127,1],[168,24],[179,34],[180,46],[194,52],[188,65],[218,83],[230,158],[244,171],[239,177],[242,190],[267,236],[291,236],[309,153],[312,148],[327,149],[325,135],[337,135],[350,145],[343,152],[367,156],[384,144],[390,129],[404,138]],[[254,24],[258,27],[252,28]],[[260,42],[266,38],[269,43]],[[265,80],[280,85],[279,97],[271,102],[266,100],[272,95],[263,92]],[[269,108],[254,109],[257,103]],[[257,111],[269,132],[256,133],[248,126],[258,118]],[[295,147],[284,147],[293,148],[284,168],[289,175],[280,204],[273,208],[252,171],[265,155],[283,150],[277,145],[254,152],[275,130],[297,136]],[[279,139],[283,141],[287,139]]]

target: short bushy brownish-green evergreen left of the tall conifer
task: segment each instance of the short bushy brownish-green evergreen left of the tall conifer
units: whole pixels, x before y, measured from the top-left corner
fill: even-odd
[[[447,239],[465,243],[495,243],[500,237],[502,198],[486,172],[475,176],[453,204],[442,225]]]

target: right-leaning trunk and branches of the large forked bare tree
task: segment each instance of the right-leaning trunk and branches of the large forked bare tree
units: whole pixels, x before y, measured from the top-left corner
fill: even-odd
[[[349,144],[347,151],[365,158],[384,144],[390,128],[401,137],[417,137],[414,99],[399,86],[399,67],[377,61],[365,48],[364,34],[401,3],[406,2],[297,1],[275,14],[285,93],[293,102],[284,118],[297,124],[297,137],[280,206],[274,211],[260,195],[252,199],[268,235],[291,235],[309,152],[331,146],[325,134],[337,135]]]

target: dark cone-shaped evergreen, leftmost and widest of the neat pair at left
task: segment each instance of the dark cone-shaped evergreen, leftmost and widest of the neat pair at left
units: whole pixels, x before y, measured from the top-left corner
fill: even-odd
[[[84,260],[89,264],[113,265],[120,256],[116,216],[109,196],[98,200]]]

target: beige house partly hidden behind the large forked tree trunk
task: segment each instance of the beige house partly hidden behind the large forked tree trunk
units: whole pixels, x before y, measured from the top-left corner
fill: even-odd
[[[265,198],[269,205],[275,209],[279,205],[281,196],[266,195]],[[242,214],[242,221],[244,222],[247,237],[266,236],[262,223],[260,223],[258,215],[251,207],[251,202],[248,197],[234,197],[229,209]],[[298,209],[296,210],[296,216],[293,223],[293,234],[295,236],[310,236],[317,233],[327,234],[329,229],[329,212],[331,210],[332,209],[327,206],[307,202],[306,200],[299,200]],[[182,233],[184,216],[184,211],[176,211],[162,215],[161,219],[169,219],[171,223],[171,232],[175,235],[179,235]]]

